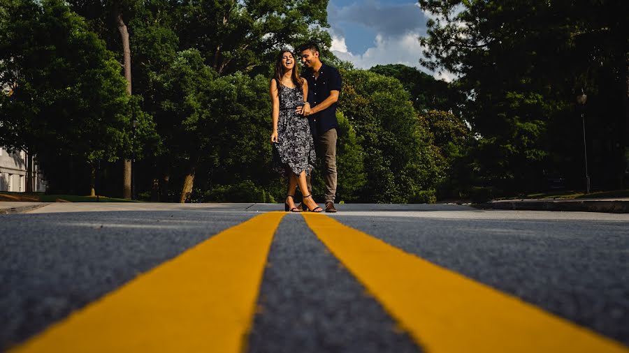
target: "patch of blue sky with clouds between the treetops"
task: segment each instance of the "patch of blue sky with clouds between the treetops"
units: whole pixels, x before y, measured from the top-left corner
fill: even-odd
[[[419,65],[418,41],[426,34],[427,20],[413,0],[330,0],[331,50],[357,68],[403,63],[428,72]]]

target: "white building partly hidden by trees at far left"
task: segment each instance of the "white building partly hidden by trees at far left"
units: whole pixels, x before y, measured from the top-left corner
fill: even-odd
[[[26,191],[27,153],[8,153],[0,147],[0,191],[23,193]],[[34,191],[45,192],[47,183],[39,172],[37,163],[33,168]]]

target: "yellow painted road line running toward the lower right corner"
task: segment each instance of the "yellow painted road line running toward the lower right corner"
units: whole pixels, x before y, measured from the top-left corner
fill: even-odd
[[[514,296],[323,215],[306,223],[427,352],[629,352]]]

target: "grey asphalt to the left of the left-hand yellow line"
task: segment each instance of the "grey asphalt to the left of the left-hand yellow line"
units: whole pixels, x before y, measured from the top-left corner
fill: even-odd
[[[253,216],[207,211],[1,216],[0,351]]]

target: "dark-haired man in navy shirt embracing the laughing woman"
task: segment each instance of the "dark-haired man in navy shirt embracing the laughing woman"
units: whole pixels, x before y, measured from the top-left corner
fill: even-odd
[[[336,212],[336,140],[338,121],[336,102],[341,91],[341,77],[336,68],[321,63],[319,47],[314,44],[300,47],[298,52],[305,66],[302,77],[308,80],[308,105],[303,114],[309,118],[310,131],[315,139],[317,157],[323,161],[323,177],[326,181],[326,212]],[[310,178],[308,178],[308,188]],[[312,193],[312,190],[309,190]]]

